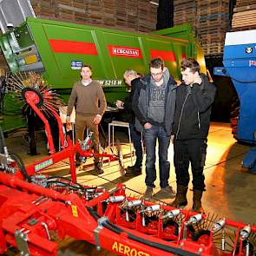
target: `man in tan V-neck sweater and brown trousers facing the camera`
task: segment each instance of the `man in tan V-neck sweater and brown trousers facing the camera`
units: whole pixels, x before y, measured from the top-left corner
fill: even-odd
[[[99,130],[98,125],[102,120],[102,115],[106,110],[106,98],[102,86],[91,79],[92,69],[89,66],[82,66],[81,82],[75,82],[69,97],[69,106],[67,113],[67,123],[70,123],[74,105],[75,108],[75,141],[82,141],[85,128],[89,128],[94,133],[94,152],[99,153]],[[76,104],[75,104],[76,102]],[[79,155],[76,155],[76,166],[81,164]],[[99,158],[95,157],[95,168],[92,174],[103,174],[102,163]]]

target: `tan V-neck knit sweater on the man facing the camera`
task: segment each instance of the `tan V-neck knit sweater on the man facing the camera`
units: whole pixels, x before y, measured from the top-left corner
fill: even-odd
[[[75,112],[81,115],[103,115],[107,106],[102,86],[96,81],[92,81],[88,86],[75,82],[69,97],[67,115],[71,115],[75,102]]]

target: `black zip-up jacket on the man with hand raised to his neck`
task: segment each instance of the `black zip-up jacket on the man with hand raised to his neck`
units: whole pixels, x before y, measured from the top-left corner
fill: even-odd
[[[176,140],[207,138],[211,107],[216,88],[207,75],[200,74],[201,84],[184,83],[177,88],[173,134]]]

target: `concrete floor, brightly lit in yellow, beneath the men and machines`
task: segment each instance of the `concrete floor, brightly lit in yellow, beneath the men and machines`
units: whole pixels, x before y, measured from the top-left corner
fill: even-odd
[[[123,154],[128,153],[128,139],[127,135],[119,132],[118,136],[122,143]],[[20,154],[23,161],[29,164],[33,161],[41,159],[47,153],[43,146],[43,140],[38,138],[37,147],[42,154],[29,156],[27,154],[28,146],[22,141],[21,136],[13,135],[7,139],[9,149]],[[204,174],[206,176],[207,191],[203,195],[202,203],[207,213],[215,213],[220,217],[226,217],[237,221],[242,221],[250,224],[256,223],[256,175],[246,173],[241,168],[241,161],[248,151],[249,147],[240,145],[233,139],[231,128],[226,123],[211,123],[208,148],[207,161]],[[169,184],[175,187],[175,174],[173,163],[173,145],[169,147],[168,158],[171,163],[171,174]],[[145,159],[144,159],[145,161]],[[91,163],[89,160],[87,164]],[[130,165],[130,159],[125,159],[125,165]],[[117,162],[110,164],[104,163],[105,173],[100,176],[91,175],[89,170],[91,167],[86,167],[82,170],[77,170],[78,181],[90,186],[104,186],[107,189],[115,187],[117,183],[124,183],[127,186],[128,194],[134,196],[141,196],[145,186],[145,166],[143,166],[142,174],[137,177],[124,177],[120,175]],[[157,164],[158,168],[158,164]],[[49,169],[51,174],[62,174],[69,177],[69,165],[67,161],[62,161],[56,168]],[[164,202],[171,202],[167,195],[159,193],[159,178],[155,182],[154,199]],[[192,206],[192,184],[189,184],[188,191],[188,206]],[[77,248],[77,246],[75,246]],[[84,248],[84,244],[83,244]],[[89,249],[90,248],[90,249]],[[71,253],[72,255],[80,255],[79,253]],[[62,253],[61,255],[71,255],[70,253]],[[111,253],[95,251],[93,246],[87,245],[87,255],[113,255]],[[82,254],[81,254],[82,255]],[[83,255],[85,255],[83,253]]]

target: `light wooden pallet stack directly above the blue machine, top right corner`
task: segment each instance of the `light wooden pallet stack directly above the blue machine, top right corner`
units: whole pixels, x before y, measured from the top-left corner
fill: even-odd
[[[237,0],[233,9],[232,30],[256,30],[256,0]]]

